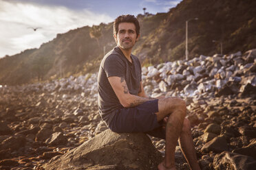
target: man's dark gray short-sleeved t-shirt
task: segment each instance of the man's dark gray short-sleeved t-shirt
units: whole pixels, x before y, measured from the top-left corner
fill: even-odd
[[[127,83],[129,93],[140,93],[141,66],[138,58],[131,54],[132,63],[115,47],[107,53],[100,63],[98,72],[98,107],[100,116],[107,125],[113,119],[116,110],[123,108],[114,93],[107,77],[123,77]]]

